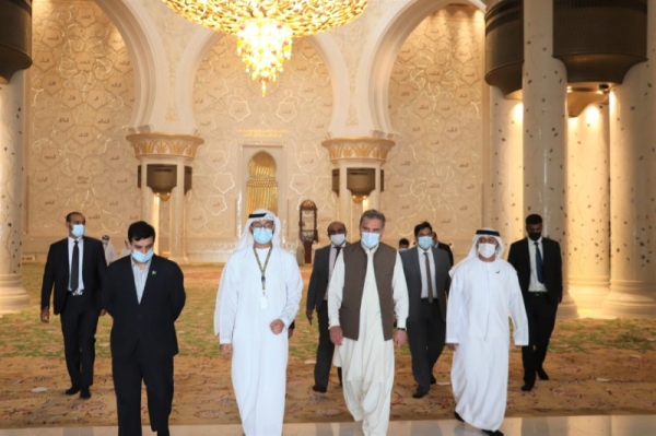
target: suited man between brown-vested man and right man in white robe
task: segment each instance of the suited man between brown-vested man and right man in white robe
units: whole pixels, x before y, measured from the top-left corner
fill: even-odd
[[[400,255],[410,303],[406,321],[408,343],[418,385],[412,397],[422,398],[436,382],[433,367],[444,349],[450,262],[446,251],[433,245],[430,223],[414,226],[414,237],[417,247]]]

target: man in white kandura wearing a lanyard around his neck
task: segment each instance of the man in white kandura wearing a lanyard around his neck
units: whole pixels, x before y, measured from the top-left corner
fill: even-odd
[[[280,247],[280,220],[259,209],[248,222],[219,284],[214,333],[232,356],[232,381],[247,436],[282,434],[288,328],[303,281],[296,259]]]

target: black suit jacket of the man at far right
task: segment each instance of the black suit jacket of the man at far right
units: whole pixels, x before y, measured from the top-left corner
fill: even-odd
[[[530,251],[528,244],[532,240],[524,238],[511,244],[508,262],[517,271],[522,293],[528,292],[530,283]],[[553,239],[542,237],[542,273],[544,275],[544,287],[551,303],[560,303],[563,297],[563,261],[560,244]]]

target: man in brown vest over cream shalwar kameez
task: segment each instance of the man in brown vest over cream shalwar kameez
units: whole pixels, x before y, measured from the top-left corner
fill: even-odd
[[[384,229],[384,214],[362,214],[361,239],[342,249],[328,288],[330,340],[338,345],[344,400],[359,435],[387,434],[394,345],[406,342],[406,276],[397,250],[380,243]]]

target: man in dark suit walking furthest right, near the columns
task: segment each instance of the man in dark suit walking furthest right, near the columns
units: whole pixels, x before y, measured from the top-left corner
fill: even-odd
[[[526,217],[528,238],[511,245],[508,262],[517,271],[528,318],[529,344],[522,347],[524,386],[529,391],[540,380],[549,380],[542,364],[555,326],[555,313],[563,298],[563,271],[560,245],[542,237],[542,217]]]

